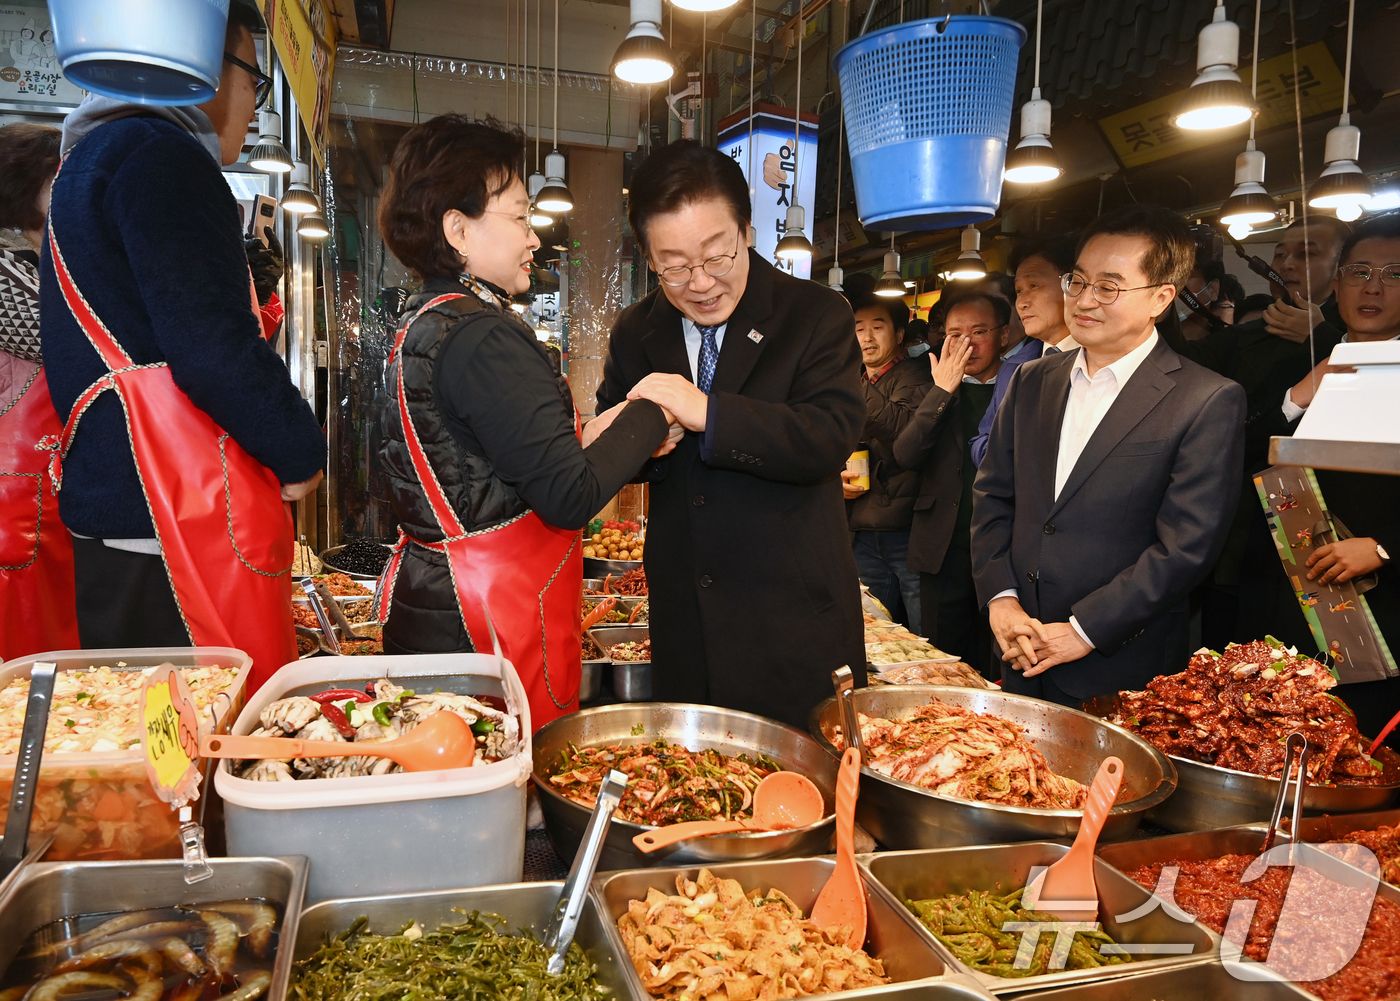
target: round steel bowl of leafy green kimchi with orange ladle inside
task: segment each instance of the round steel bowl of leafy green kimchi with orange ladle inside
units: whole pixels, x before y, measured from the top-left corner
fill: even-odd
[[[762,858],[797,858],[823,855],[832,851],[834,829],[834,797],[837,762],[818,746],[811,736],[774,720],[766,720],[749,713],[717,708],[714,706],[687,706],[683,703],[630,703],[623,706],[601,706],[554,720],[533,736],[535,742],[535,785],[539,788],[540,806],[545,812],[545,826],[554,850],[563,860],[571,860],[592,812],[591,799],[596,795],[596,781],[591,785],[561,781],[560,771],[566,756],[575,748],[633,748],[654,741],[685,748],[689,752],[715,750],[727,757],[743,756],[756,763],[769,759],[788,771],[799,771],[811,778],[822,791],[825,815],[813,825],[794,830],[752,832],[735,834],[713,834],[710,837],[680,841],[666,848],[644,853],[631,839],[658,825],[637,823],[626,819],[623,812],[613,816],[608,840],[603,844],[599,871],[634,869],[651,865],[696,865],[711,862],[748,862]],[[626,767],[631,767],[629,763]],[[626,769],[624,769],[626,770]],[[588,773],[596,780],[606,771],[606,763],[599,763]],[[644,769],[641,770],[644,771]],[[711,763],[713,771],[713,763]],[[637,774],[645,780],[645,774]],[[634,785],[636,778],[630,785]],[[647,783],[655,785],[654,781]],[[708,790],[714,781],[697,783],[700,790],[687,795],[696,801],[713,797]],[[637,788],[634,785],[634,788]],[[661,811],[665,791],[669,797],[675,790],[647,788],[647,794]],[[701,808],[703,806],[697,806]],[[624,811],[634,811],[630,801],[623,801]],[[682,819],[700,819],[680,816]]]

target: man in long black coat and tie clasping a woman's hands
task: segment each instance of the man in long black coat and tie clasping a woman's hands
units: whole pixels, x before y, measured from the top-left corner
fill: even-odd
[[[598,403],[673,406],[685,435],[645,470],[652,694],[805,728],[832,671],[865,679],[840,479],[865,424],[851,308],[748,249],[748,183],[717,150],[652,153],[629,217],[661,287],[617,318]]]

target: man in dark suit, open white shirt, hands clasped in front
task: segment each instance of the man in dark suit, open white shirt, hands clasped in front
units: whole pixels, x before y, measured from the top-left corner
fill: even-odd
[[[1186,666],[1186,598],[1229,528],[1245,420],[1245,391],[1154,329],[1194,255],[1165,209],[1096,220],[1064,280],[1081,349],[1012,377],[972,525],[1008,692],[1078,706]]]

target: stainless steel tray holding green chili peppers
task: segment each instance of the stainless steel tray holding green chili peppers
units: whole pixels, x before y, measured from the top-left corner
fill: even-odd
[[[1151,893],[1106,862],[1095,867],[1099,889],[1099,920],[1103,930],[1119,945],[1190,945],[1184,955],[1107,966],[1099,970],[1064,970],[1036,977],[993,977],[973,973],[956,960],[923,921],[909,911],[906,900],[925,900],[967,890],[1011,893],[1030,879],[1030,867],[1050,865],[1068,851],[1063,844],[1030,841],[1025,844],[994,844],[976,848],[934,848],[925,851],[885,851],[861,855],[861,867],[871,875],[886,900],[910,913],[918,931],[930,945],[946,956],[951,965],[977,977],[993,994],[1019,994],[1040,986],[1065,986],[1128,977],[1142,970],[1204,962],[1218,952],[1219,938],[1198,921],[1182,924],[1161,907],[1137,920],[1120,923],[1117,916],[1128,914],[1151,897]]]

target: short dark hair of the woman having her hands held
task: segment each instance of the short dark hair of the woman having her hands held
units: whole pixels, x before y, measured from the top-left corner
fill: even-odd
[[[438,115],[399,140],[379,197],[379,234],[393,256],[421,277],[452,277],[462,258],[442,217],[456,209],[480,218],[487,203],[521,176],[525,136],[494,118]]]

